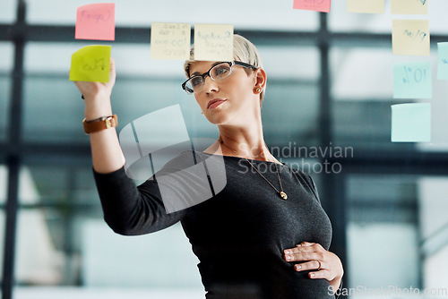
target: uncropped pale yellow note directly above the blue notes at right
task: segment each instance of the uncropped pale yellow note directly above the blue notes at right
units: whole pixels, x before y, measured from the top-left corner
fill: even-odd
[[[427,20],[392,20],[393,54],[429,56]]]

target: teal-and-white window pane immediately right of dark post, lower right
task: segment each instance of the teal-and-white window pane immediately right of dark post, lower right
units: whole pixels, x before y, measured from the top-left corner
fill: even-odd
[[[348,183],[350,286],[420,287],[416,178],[350,175]]]

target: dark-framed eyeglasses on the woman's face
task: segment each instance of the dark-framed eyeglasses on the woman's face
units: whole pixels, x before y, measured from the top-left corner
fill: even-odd
[[[256,67],[252,64],[245,64],[240,61],[224,62],[218,63],[211,66],[211,69],[207,73],[202,73],[202,75],[195,75],[190,77],[187,81],[182,83],[182,89],[186,91],[189,95],[203,90],[203,84],[205,82],[205,76],[209,76],[213,81],[220,81],[232,73],[232,66],[240,65],[243,67],[251,68],[256,70]]]

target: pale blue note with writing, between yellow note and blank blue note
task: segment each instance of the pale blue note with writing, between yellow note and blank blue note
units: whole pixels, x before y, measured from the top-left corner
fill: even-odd
[[[393,64],[393,98],[432,98],[431,62]]]

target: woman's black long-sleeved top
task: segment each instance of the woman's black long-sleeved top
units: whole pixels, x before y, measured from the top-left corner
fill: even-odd
[[[213,156],[198,151],[183,153],[168,162],[158,172],[159,177],[185,169],[185,155],[192,152],[194,164]],[[311,176],[277,164],[288,194],[285,201],[245,158],[221,158],[227,180],[223,189],[207,201],[172,213],[166,211],[167,199],[162,199],[158,174],[137,187],[124,168],[106,175],[94,173],[108,226],[118,234],[142,235],[181,221],[200,261],[198,268],[208,299],[334,298],[327,280],[308,278],[309,271],[297,272],[295,262],[283,258],[283,250],[304,241],[329,249],[332,226]],[[250,162],[280,190],[273,162]],[[211,163],[204,164],[210,168]],[[179,186],[192,182],[182,176],[175,192],[182,193],[184,187]]]

